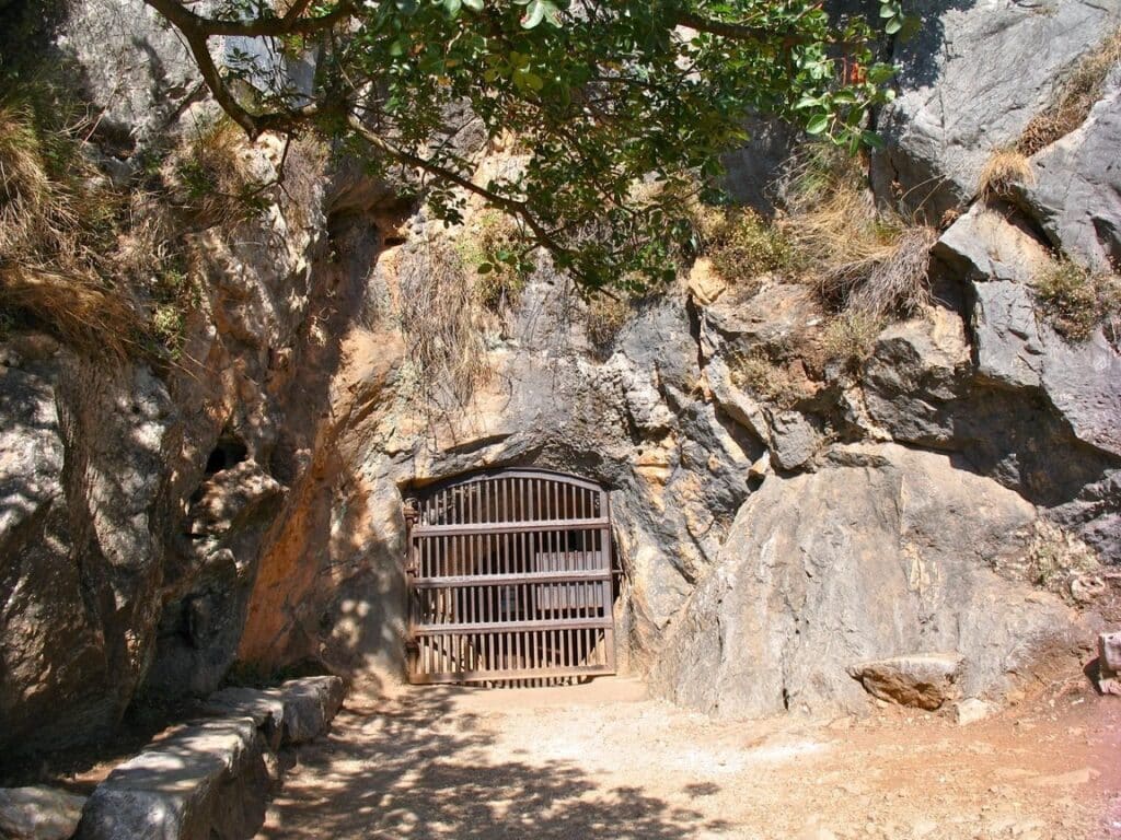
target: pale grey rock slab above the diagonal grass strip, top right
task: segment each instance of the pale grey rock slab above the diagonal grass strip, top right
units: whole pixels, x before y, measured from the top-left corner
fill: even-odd
[[[887,149],[872,175],[879,196],[902,195],[935,221],[973,196],[992,151],[1013,143],[1062,72],[1121,22],[1118,0],[1053,0],[1044,10],[924,0],[908,11],[923,27],[896,45],[900,94],[880,120]]]

